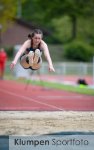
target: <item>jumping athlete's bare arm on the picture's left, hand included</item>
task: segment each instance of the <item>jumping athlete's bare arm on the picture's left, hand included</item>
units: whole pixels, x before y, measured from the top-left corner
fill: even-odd
[[[17,54],[14,57],[14,60],[12,61],[12,63],[10,64],[10,69],[13,69],[14,66],[16,65],[18,59],[20,58],[20,56],[25,52],[25,50],[28,48],[29,45],[29,41],[25,41],[24,44],[21,46],[21,48],[19,49],[19,51],[17,52]]]

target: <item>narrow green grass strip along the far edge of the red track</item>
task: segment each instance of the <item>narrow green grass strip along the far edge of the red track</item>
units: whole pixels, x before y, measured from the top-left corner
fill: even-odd
[[[5,77],[5,79],[15,80],[17,82],[25,83],[27,85],[39,85],[39,86],[43,86],[44,88],[65,90],[65,91],[69,91],[69,92],[75,92],[75,93],[79,93],[79,94],[94,96],[94,89],[88,88],[88,86],[64,85],[64,84],[60,84],[60,83],[51,83],[51,82],[46,82],[46,81],[26,80],[24,78],[16,79],[11,75],[7,75]]]

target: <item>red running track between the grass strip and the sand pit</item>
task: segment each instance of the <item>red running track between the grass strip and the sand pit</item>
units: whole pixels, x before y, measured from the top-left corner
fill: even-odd
[[[0,110],[94,111],[94,96],[0,80]]]

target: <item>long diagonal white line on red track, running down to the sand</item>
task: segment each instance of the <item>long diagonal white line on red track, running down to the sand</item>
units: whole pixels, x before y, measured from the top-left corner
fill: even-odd
[[[6,93],[6,94],[12,95],[12,96],[16,96],[16,97],[19,97],[19,98],[27,99],[28,101],[36,102],[38,104],[42,104],[42,105],[45,105],[45,106],[48,106],[48,107],[51,107],[51,108],[55,108],[55,109],[60,110],[60,111],[64,111],[64,109],[61,109],[59,107],[56,107],[54,105],[50,105],[50,104],[47,104],[47,103],[44,103],[44,102],[39,102],[39,100],[37,101],[36,99],[30,98],[30,97],[26,97],[26,96],[22,96],[22,95],[19,95],[19,94],[15,94],[15,93],[12,93],[10,91],[3,90],[3,89],[0,89],[0,91],[2,91],[3,93]]]

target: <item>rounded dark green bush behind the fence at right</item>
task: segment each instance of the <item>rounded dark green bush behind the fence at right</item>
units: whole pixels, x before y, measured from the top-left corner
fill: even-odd
[[[63,55],[68,60],[89,62],[94,56],[94,47],[84,42],[74,41],[64,46]]]

